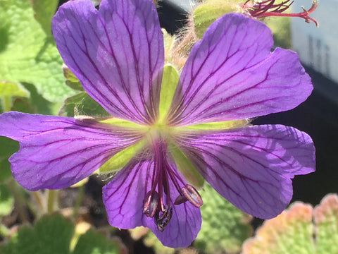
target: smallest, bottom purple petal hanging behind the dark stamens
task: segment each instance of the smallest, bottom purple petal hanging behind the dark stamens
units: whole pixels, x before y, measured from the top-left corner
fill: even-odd
[[[151,185],[154,162],[130,162],[103,189],[103,200],[108,214],[108,222],[121,229],[146,226],[154,232],[165,246],[177,248],[189,246],[201,228],[201,212],[189,202],[173,205],[173,216],[163,232],[156,228],[154,218],[142,213],[146,186]],[[146,177],[147,169],[151,169]],[[178,171],[176,171],[177,174]],[[170,196],[176,198],[178,192],[170,181]],[[173,202],[173,200],[172,200]]]

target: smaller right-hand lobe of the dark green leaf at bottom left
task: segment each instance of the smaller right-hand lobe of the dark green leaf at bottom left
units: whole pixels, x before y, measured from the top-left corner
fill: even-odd
[[[118,241],[111,241],[103,234],[89,229],[80,236],[73,254],[116,254],[122,253],[124,246]]]

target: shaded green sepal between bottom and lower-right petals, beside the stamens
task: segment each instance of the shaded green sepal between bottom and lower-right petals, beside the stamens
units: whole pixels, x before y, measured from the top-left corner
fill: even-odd
[[[173,156],[177,169],[184,176],[184,179],[191,183],[195,188],[202,188],[204,185],[204,178],[199,174],[199,171],[194,167],[190,159],[184,155],[184,152],[179,147],[170,144],[170,154]]]

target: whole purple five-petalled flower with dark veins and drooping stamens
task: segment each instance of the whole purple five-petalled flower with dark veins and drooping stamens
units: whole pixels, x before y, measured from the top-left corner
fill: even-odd
[[[23,187],[70,186],[133,147],[104,186],[108,221],[147,226],[179,247],[201,226],[201,176],[267,219],[289,203],[294,175],[314,170],[306,133],[245,120],[292,109],[313,89],[296,53],[270,52],[272,36],[260,21],[239,13],[216,20],[192,48],[163,117],[160,97],[170,89],[161,91],[163,35],[151,0],[103,0],[99,10],[69,1],[52,27],[63,60],[113,119],[1,114],[0,135],[20,142],[10,162]]]

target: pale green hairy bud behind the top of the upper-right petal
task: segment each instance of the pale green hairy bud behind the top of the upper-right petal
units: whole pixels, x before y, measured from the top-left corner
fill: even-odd
[[[193,13],[195,34],[201,38],[206,29],[225,13],[236,12],[236,1],[208,0],[197,6]]]

